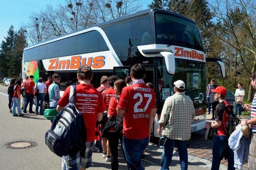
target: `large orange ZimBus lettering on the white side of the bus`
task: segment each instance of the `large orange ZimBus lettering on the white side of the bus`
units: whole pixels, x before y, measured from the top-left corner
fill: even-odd
[[[67,60],[50,59],[49,70],[78,69],[81,65],[88,65],[92,68],[102,68],[105,65],[104,56],[82,58],[82,56],[73,56]]]

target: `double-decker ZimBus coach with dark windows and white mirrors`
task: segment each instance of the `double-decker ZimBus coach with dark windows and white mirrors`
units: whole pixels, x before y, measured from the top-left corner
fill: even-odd
[[[186,95],[194,102],[192,132],[205,127],[206,61],[217,62],[225,76],[221,60],[206,58],[194,21],[150,9],[25,48],[22,76],[34,75],[37,82],[39,77],[46,80],[58,73],[62,76],[60,90],[64,92],[65,82],[76,78],[80,65],[92,67],[92,85],[97,88],[103,75],[125,78],[132,65],[141,63],[146,68],[144,81],[151,82],[156,92],[158,110],[152,135],[159,137],[158,119],[164,101],[174,93],[176,80],[186,83]]]

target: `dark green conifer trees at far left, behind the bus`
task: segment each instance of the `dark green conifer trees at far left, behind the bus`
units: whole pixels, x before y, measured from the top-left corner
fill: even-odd
[[[10,26],[7,36],[0,45],[0,72],[2,77],[18,77],[21,69],[23,50],[26,47],[26,38],[22,30],[18,33],[14,26]]]

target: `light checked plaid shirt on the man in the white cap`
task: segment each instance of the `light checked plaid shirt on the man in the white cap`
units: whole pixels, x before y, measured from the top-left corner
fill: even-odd
[[[177,92],[164,102],[158,123],[163,125],[162,136],[186,141],[190,139],[191,123],[195,118],[192,100],[185,92]]]

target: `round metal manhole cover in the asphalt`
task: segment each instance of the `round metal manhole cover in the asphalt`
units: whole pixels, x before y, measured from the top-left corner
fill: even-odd
[[[8,149],[28,149],[36,147],[38,144],[32,141],[14,141],[6,143],[4,146]]]

